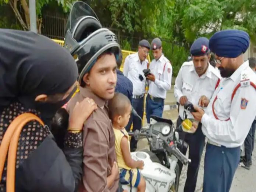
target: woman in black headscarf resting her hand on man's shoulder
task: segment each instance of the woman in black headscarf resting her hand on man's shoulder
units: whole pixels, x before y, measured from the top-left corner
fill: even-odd
[[[1,144],[10,123],[22,113],[36,114],[49,124],[74,92],[78,70],[70,53],[36,33],[0,29],[0,42]],[[82,130],[95,109],[88,98],[76,106],[63,151],[47,126],[36,121],[25,125],[17,149],[15,191],[76,191],[82,175],[82,132],[72,130]],[[5,186],[6,167],[0,191]]]

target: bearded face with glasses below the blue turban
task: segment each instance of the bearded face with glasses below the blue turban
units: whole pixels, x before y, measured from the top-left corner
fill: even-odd
[[[217,63],[220,64],[218,69],[220,70],[221,77],[230,77],[235,72],[234,67],[232,67],[233,62],[231,58],[218,57],[217,55],[215,55],[215,58]]]

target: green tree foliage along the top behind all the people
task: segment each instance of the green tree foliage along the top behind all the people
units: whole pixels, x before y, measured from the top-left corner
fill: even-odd
[[[29,0],[0,0],[8,4],[24,30],[29,30]],[[38,31],[42,8],[57,1],[63,12],[76,0],[36,0]],[[193,41],[210,37],[221,29],[242,29],[256,42],[256,0],[84,0],[100,21],[127,36],[168,39],[163,47],[167,58],[179,68]],[[2,25],[6,25],[3,20]],[[131,47],[123,42],[125,47]],[[176,70],[177,71],[177,70]]]

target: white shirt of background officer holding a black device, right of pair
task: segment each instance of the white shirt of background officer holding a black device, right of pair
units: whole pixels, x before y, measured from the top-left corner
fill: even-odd
[[[170,61],[162,54],[159,60],[152,60],[149,69],[156,77],[154,82],[149,81],[149,95],[165,99],[167,90],[171,89],[171,76],[173,74]]]

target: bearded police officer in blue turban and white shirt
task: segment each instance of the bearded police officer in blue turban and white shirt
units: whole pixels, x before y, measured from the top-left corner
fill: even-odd
[[[256,115],[256,75],[243,60],[249,47],[248,33],[224,30],[209,40],[220,64],[221,79],[205,111],[194,106],[195,120],[206,135],[203,192],[228,192],[245,141]]]

